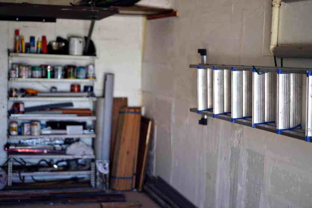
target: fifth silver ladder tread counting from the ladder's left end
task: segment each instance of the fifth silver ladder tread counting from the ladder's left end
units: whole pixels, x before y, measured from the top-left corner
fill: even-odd
[[[232,70],[232,119],[243,117],[243,71]]]

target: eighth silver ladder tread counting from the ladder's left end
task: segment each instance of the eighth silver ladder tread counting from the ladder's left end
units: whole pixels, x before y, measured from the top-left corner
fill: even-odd
[[[276,73],[264,75],[264,122],[276,122]]]

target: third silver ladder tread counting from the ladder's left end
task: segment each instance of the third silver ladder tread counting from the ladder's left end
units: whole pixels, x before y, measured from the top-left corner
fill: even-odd
[[[224,113],[224,70],[213,70],[213,114]]]

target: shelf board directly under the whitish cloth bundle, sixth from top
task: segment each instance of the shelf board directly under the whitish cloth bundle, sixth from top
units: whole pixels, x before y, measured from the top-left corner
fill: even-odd
[[[51,155],[51,154],[9,154],[9,158],[29,158],[29,159],[41,159],[41,158],[60,158],[60,159],[93,159],[94,155]]]

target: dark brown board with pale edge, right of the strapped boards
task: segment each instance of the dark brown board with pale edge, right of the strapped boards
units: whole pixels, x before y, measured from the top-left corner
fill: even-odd
[[[140,126],[140,139],[138,150],[138,165],[137,177],[135,181],[135,188],[138,191],[143,190],[143,183],[145,179],[146,166],[148,162],[149,146],[152,132],[152,120],[142,117]]]

